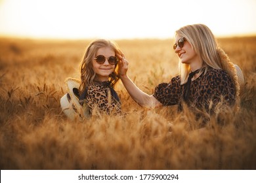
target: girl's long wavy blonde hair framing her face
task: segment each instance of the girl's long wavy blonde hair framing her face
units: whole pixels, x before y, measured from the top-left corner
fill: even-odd
[[[116,55],[121,54],[121,50],[117,46],[116,42],[108,41],[105,39],[96,39],[95,41],[91,42],[85,51],[79,67],[81,72],[81,85],[79,87],[79,91],[81,93],[85,90],[85,86],[95,82],[96,73],[93,70],[93,59],[95,58],[98,49],[104,47],[112,48]],[[114,86],[119,80],[117,73],[118,65],[119,63],[117,62],[114,71],[109,76],[109,81],[112,86]]]

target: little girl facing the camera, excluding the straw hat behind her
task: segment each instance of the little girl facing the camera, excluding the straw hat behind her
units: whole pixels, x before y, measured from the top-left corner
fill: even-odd
[[[89,114],[120,114],[121,103],[114,90],[121,51],[114,42],[98,39],[89,44],[80,64],[79,103]]]

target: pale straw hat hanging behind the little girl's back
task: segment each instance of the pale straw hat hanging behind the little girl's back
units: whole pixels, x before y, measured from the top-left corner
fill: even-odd
[[[83,118],[89,117],[89,110],[87,107],[80,105],[79,103],[79,86],[81,82],[76,78],[66,78],[65,80],[68,93],[66,93],[60,99],[60,107],[62,108],[62,112],[70,118],[70,120],[74,120],[75,118],[79,118],[82,120]]]

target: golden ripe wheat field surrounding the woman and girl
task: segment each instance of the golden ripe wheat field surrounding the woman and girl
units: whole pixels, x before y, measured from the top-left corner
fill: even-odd
[[[212,116],[205,133],[189,110],[142,108],[121,81],[125,117],[70,121],[60,108],[65,78],[79,78],[91,40],[0,39],[1,169],[256,169],[256,37],[218,39],[245,77],[240,111]],[[117,40],[129,76],[152,94],[178,73],[171,39]],[[216,125],[216,119],[223,126]],[[170,124],[172,133],[170,133]]]

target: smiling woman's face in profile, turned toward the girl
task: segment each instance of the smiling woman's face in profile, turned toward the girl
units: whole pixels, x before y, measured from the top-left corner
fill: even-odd
[[[200,59],[198,54],[196,54],[195,50],[192,48],[192,45],[184,39],[183,46],[179,46],[178,41],[181,39],[179,35],[175,38],[175,44],[177,44],[177,48],[175,49],[175,53],[177,53],[177,56],[179,57],[181,63],[186,63],[191,65],[194,65],[196,63],[199,63]],[[181,41],[181,40],[180,40]]]

